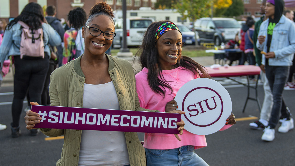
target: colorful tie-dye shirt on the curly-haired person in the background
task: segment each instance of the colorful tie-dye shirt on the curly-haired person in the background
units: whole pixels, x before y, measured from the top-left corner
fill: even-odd
[[[75,28],[71,28],[65,31],[65,35],[63,37],[63,41],[65,42],[65,46],[63,48],[63,65],[77,58],[75,42],[77,33],[78,30],[76,30]]]

